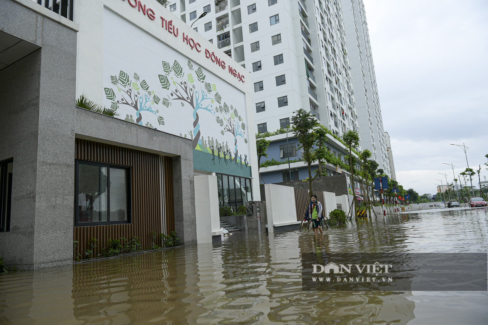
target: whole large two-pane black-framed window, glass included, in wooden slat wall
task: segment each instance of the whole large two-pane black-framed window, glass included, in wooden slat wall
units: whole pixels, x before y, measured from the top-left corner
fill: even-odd
[[[130,168],[76,162],[77,226],[131,222]]]

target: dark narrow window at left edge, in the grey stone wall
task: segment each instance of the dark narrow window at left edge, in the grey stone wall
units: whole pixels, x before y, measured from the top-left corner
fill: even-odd
[[[13,167],[13,159],[0,162],[0,232],[10,231]]]

